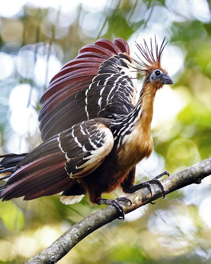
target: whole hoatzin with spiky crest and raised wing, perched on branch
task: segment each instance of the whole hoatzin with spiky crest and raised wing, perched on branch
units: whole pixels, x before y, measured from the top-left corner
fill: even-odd
[[[99,39],[80,49],[52,78],[40,100],[43,143],[30,153],[1,156],[0,173],[7,173],[1,178],[6,179],[0,187],[2,201],[60,194],[62,202],[72,204],[88,194],[92,203],[115,206],[124,219],[121,203],[131,201],[101,195],[119,186],[125,193],[143,187],[151,192],[150,183],[160,184],[160,176],[137,185],[134,181],[136,164],[153,150],[156,91],[173,83],[160,64],[165,45],[165,38],[160,49],[156,39],[150,46],[145,40],[136,43],[143,57],[138,56],[139,62],[120,38]],[[144,81],[136,103],[138,71]]]

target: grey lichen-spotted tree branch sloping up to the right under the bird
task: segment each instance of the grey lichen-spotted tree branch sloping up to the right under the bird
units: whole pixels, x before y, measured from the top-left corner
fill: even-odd
[[[209,175],[211,175],[211,158],[205,159],[183,171],[177,172],[170,177],[161,180],[161,182],[165,189],[165,193],[169,194],[170,192],[192,183],[199,184],[203,178]],[[130,213],[131,211],[162,197],[162,191],[158,185],[152,184],[151,187],[152,197],[147,188],[128,195],[127,197],[132,201],[132,205],[130,207],[124,206],[124,213]],[[61,235],[48,248],[38,253],[25,264],[56,263],[83,238],[103,225],[113,221],[117,217],[118,212],[111,205],[87,216]]]

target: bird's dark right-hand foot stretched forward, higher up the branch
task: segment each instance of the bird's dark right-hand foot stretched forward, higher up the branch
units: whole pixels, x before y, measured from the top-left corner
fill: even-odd
[[[161,188],[163,198],[164,198],[165,197],[165,190],[164,190],[162,183],[158,180],[159,178],[161,178],[164,175],[167,175],[167,177],[169,177],[169,173],[167,171],[165,171],[165,172],[161,173],[160,175],[157,175],[155,178],[153,178],[152,180],[149,180],[149,181],[145,181],[145,182],[138,183],[136,185],[131,185],[131,186],[128,186],[127,183],[123,184],[122,189],[124,192],[132,194],[133,192],[146,187],[146,188],[148,188],[148,190],[150,191],[150,194],[152,196],[152,188],[151,188],[150,184],[155,183],[155,184],[159,185],[159,187]]]

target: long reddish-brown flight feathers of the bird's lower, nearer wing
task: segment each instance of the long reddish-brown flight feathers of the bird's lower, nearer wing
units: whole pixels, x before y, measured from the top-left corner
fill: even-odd
[[[31,200],[41,196],[54,195],[69,187],[72,182],[64,170],[64,155],[51,154],[37,159],[29,164],[20,166],[0,188],[2,201],[25,196],[24,200]],[[54,160],[54,164],[49,166]]]

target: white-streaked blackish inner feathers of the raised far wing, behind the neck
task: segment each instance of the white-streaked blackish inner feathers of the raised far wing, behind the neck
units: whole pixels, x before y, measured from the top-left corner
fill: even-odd
[[[85,111],[87,117],[107,117],[127,115],[136,104],[137,71],[133,60],[119,53],[104,61],[85,91]],[[81,98],[81,93],[76,95]]]

